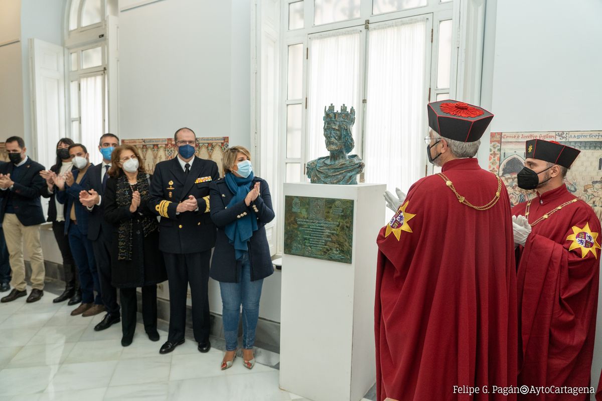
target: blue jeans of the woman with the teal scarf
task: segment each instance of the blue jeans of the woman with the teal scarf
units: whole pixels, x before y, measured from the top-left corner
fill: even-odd
[[[263,279],[251,281],[251,263],[249,254],[245,254],[238,275],[238,283],[222,283],[224,337],[226,350],[233,351],[238,346],[238,317],[240,305],[243,305],[243,348],[253,349],[255,329],[259,319],[259,298]]]

